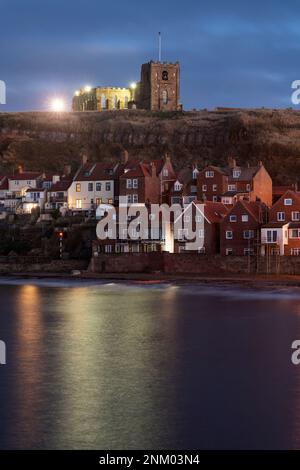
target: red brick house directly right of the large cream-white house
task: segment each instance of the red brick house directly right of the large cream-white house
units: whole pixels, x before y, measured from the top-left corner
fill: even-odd
[[[161,167],[156,162],[129,161],[120,176],[120,202],[159,204],[161,202]]]

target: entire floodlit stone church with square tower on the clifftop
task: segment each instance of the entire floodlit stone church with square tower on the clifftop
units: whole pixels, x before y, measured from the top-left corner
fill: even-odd
[[[132,83],[129,88],[81,88],[75,92],[72,109],[73,111],[181,110],[179,62],[150,61],[143,64],[140,82]]]

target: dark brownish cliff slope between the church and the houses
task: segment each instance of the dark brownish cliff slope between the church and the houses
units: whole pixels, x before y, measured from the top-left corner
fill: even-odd
[[[300,112],[226,110],[184,113],[0,114],[0,170],[74,167],[91,160],[150,159],[171,152],[177,168],[197,162],[222,164],[263,160],[276,183],[300,180]],[[298,176],[299,175],[299,176]]]

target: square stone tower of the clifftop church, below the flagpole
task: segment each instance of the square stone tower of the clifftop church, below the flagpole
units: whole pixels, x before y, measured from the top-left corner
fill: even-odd
[[[148,62],[142,65],[138,107],[151,111],[178,111],[180,106],[179,62]]]

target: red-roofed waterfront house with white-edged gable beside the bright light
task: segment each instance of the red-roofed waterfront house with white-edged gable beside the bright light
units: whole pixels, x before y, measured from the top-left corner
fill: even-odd
[[[220,223],[228,213],[228,208],[221,202],[207,201],[204,204],[199,201],[192,201],[184,207],[182,214],[178,219],[184,222],[185,217],[192,217],[192,230],[196,230],[196,221],[203,221],[203,228],[198,235],[203,238],[203,247],[198,250],[199,253],[213,255],[220,252]],[[185,228],[178,228],[178,233],[174,233],[175,253],[188,252],[186,248]],[[177,230],[174,228],[174,230]]]

